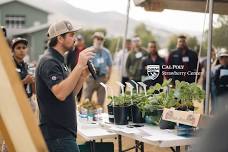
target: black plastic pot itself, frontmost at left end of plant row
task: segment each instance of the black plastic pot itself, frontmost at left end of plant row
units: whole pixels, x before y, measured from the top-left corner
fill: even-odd
[[[114,106],[114,123],[117,125],[128,124],[128,109],[129,106]]]

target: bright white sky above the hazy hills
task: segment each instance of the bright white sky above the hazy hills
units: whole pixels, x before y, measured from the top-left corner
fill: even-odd
[[[65,0],[69,4],[92,12],[116,11],[126,14],[128,0]],[[130,17],[144,22],[159,24],[167,29],[177,29],[200,34],[203,30],[203,13],[165,10],[163,12],[147,12],[136,7],[131,0]],[[216,21],[215,15],[214,21]],[[208,19],[208,17],[207,17]],[[207,25],[206,25],[207,26]]]

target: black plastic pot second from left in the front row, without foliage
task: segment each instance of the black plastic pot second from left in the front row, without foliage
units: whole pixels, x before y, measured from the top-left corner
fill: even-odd
[[[131,117],[133,123],[144,123],[144,118],[142,117],[142,112],[136,105],[131,105]]]

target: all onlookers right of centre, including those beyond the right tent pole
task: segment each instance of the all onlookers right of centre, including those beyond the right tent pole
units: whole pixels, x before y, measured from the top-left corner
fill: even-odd
[[[172,79],[188,83],[199,83],[206,90],[207,59],[198,57],[195,50],[187,45],[187,37],[180,35],[177,38],[176,48],[170,50],[168,58],[159,55],[157,42],[149,41],[147,48],[141,47],[138,36],[127,39],[125,49],[116,55],[115,64],[122,75],[122,83],[131,80],[144,82],[147,88],[156,83],[162,84],[164,79]],[[225,48],[211,50],[211,113],[215,109],[227,109],[224,100],[228,94],[228,50]],[[132,83],[132,85],[135,85]],[[220,105],[220,106],[219,106]],[[205,106],[204,106],[205,108]],[[205,110],[205,109],[204,109]],[[219,110],[217,110],[219,111]]]

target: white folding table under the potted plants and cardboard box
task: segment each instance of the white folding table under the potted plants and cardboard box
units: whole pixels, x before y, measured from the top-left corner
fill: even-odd
[[[107,119],[106,119],[107,120]],[[144,143],[159,147],[170,147],[173,152],[180,152],[181,146],[189,146],[194,143],[196,137],[177,136],[175,130],[161,130],[158,126],[143,124],[143,127],[129,128],[128,125],[115,125],[108,121],[100,123],[103,128],[118,134],[119,152],[130,149],[144,152]],[[126,150],[122,149],[122,136],[135,140],[135,146]]]

